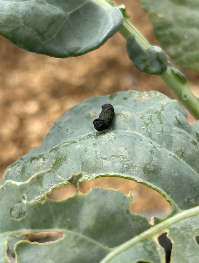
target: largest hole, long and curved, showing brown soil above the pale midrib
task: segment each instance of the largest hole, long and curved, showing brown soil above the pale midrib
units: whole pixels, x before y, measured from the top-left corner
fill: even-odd
[[[170,204],[157,191],[128,179],[103,177],[79,182],[79,189],[82,193],[86,193],[94,186],[119,189],[126,194],[129,194],[131,191],[133,200],[130,205],[130,211],[146,216],[149,221],[152,216],[164,218],[171,210]]]

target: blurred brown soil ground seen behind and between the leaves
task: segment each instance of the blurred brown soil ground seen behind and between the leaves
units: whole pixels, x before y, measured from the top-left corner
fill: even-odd
[[[158,45],[146,14],[138,0],[124,0],[131,22]],[[183,70],[188,84],[198,93],[197,73]],[[39,146],[53,122],[83,100],[117,91],[158,90],[170,98],[174,94],[158,76],[139,72],[128,59],[125,40],[117,33],[98,50],[76,58],[57,59],[27,52],[0,38],[0,180],[5,168]],[[195,120],[188,115],[190,123]],[[120,178],[101,178],[82,183],[86,192],[93,185],[133,191],[133,211],[166,209],[165,199],[147,186]],[[53,195],[53,194],[52,194]],[[137,197],[136,197],[137,196]],[[160,196],[160,197],[159,197]]]

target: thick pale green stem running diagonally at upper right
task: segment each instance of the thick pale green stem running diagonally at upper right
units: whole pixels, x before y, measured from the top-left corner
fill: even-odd
[[[123,25],[120,29],[120,34],[127,39],[130,35],[134,35],[139,44],[147,49],[151,45],[148,41],[137,31],[137,29],[126,19],[123,18]],[[160,75],[160,78],[168,85],[173,93],[178,97],[180,102],[189,110],[193,117],[199,119],[199,98],[197,98],[187,85],[176,75],[168,66],[166,72]]]

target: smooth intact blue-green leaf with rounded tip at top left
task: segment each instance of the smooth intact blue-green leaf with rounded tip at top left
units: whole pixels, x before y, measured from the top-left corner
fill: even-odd
[[[99,48],[122,26],[105,0],[0,0],[0,35],[30,52],[67,58]]]

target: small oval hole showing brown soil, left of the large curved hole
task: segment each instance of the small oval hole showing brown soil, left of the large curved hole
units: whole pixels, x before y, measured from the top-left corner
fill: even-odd
[[[60,200],[65,200],[70,196],[73,196],[76,193],[76,188],[72,184],[68,184],[65,186],[61,186],[60,188],[55,189],[52,191],[49,195],[48,198],[60,201]]]

